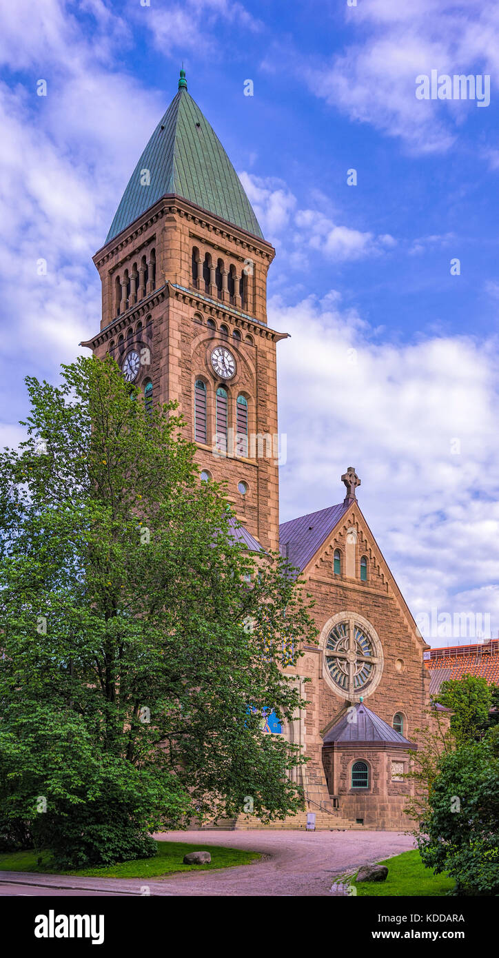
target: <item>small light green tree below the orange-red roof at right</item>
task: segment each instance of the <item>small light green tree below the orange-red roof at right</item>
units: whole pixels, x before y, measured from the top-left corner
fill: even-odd
[[[481,675],[466,674],[442,682],[436,700],[452,709],[450,724],[458,741],[476,739],[488,727],[492,692]]]

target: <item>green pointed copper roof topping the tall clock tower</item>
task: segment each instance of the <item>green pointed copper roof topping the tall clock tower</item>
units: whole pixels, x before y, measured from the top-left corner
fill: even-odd
[[[180,84],[130,176],[106,243],[166,194],[182,196],[247,233],[263,238],[227,153],[187,92],[186,81],[181,79]],[[144,170],[150,172],[149,186],[141,185]]]

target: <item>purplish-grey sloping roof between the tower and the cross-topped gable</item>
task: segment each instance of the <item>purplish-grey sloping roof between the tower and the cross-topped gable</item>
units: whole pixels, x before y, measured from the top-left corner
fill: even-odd
[[[300,571],[305,569],[350,505],[350,502],[342,502],[283,522],[279,527],[281,554]]]

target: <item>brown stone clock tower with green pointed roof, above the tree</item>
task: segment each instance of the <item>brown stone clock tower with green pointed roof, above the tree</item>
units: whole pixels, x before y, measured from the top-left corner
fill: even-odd
[[[264,549],[279,541],[274,254],[181,71],[94,257],[102,324],[83,345],[110,353],[147,399],[178,400],[203,477],[227,482]]]

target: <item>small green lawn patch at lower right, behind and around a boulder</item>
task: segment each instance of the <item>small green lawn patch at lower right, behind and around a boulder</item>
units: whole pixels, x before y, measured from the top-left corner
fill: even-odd
[[[454,888],[455,881],[446,875],[434,875],[430,868],[425,868],[420,853],[402,852],[393,858],[386,858],[378,862],[387,865],[388,878],[386,881],[360,881],[358,884],[352,878],[352,884],[357,889],[357,896],[402,896],[423,895],[439,897]]]

